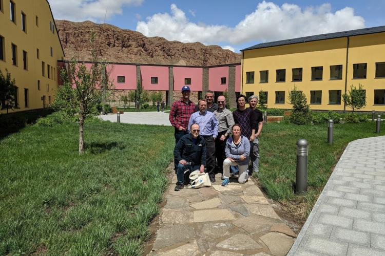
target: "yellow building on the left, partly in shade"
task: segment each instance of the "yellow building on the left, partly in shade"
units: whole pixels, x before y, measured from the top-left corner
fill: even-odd
[[[64,58],[48,1],[0,0],[0,24],[0,70],[16,81],[14,111],[46,107],[57,90],[57,60]]]

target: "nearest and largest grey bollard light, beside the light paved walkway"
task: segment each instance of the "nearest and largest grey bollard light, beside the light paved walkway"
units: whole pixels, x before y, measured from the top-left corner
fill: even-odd
[[[297,141],[297,172],[296,194],[304,193],[307,189],[307,155],[309,154],[309,142],[305,139]]]

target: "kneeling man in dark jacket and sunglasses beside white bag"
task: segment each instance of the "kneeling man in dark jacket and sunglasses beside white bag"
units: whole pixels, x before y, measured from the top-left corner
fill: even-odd
[[[192,170],[199,169],[204,172],[206,165],[206,143],[202,136],[199,135],[199,125],[194,123],[190,127],[190,133],[184,135],[174,148],[174,158],[177,165],[177,186],[175,191],[183,188],[185,182],[185,172],[187,177]]]

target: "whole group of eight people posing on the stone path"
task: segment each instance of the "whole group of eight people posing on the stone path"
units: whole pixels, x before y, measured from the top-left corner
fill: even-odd
[[[226,109],[226,99],[207,91],[198,104],[190,100],[190,88],[182,87],[182,98],[172,103],[169,120],[175,127],[174,164],[177,174],[176,191],[188,182],[192,170],[206,172],[211,182],[222,174],[222,186],[227,186],[230,166],[238,166],[238,182],[259,170],[259,140],[262,132],[262,112],[256,106],[258,97],[237,97],[237,110]],[[249,108],[246,108],[246,103]],[[249,168],[249,160],[252,165]]]

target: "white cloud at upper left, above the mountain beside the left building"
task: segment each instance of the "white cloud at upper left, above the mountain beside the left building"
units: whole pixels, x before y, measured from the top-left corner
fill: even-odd
[[[104,17],[122,14],[125,5],[141,5],[143,0],[50,0],[53,17],[73,22],[92,20],[103,22]]]

